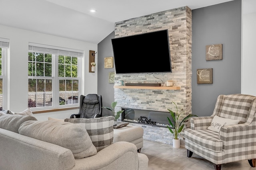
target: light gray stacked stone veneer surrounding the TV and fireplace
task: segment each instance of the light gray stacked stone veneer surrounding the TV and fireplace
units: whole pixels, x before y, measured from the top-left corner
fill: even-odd
[[[121,107],[127,107],[168,111],[167,109],[174,110],[175,107],[174,104],[172,104],[173,101],[179,108],[182,108],[186,114],[191,114],[191,27],[192,11],[187,6],[115,23],[115,37],[124,37],[168,29],[172,63],[172,73],[159,73],[154,75],[116,74],[116,86],[118,86],[119,80],[123,80],[124,83],[162,83],[163,81],[164,86],[166,86],[167,80],[173,80],[174,86],[181,87],[180,90],[116,88],[114,90],[114,99],[118,102],[116,110],[120,110]],[[161,64],[161,56],[156,57],[159,58],[159,61],[156,64]],[[143,63],[141,64],[144,66]],[[157,78],[162,79],[162,81]],[[170,135],[167,128],[140,125],[136,123],[132,123],[132,125],[143,127],[144,139],[172,144],[173,137]]]

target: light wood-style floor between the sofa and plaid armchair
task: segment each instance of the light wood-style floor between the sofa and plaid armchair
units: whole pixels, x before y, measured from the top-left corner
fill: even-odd
[[[197,154],[187,157],[184,147],[172,148],[172,145],[144,140],[140,153],[148,156],[148,170],[214,170],[212,162]],[[222,164],[222,170],[256,170],[248,160]]]

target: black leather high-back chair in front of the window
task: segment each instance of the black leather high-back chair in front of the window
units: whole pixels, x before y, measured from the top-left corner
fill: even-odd
[[[78,114],[72,114],[70,118],[95,118],[102,117],[102,96],[87,94],[80,96]]]

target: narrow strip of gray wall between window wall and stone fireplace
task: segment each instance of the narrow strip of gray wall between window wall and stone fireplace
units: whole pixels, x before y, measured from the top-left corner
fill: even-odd
[[[98,43],[98,95],[102,95],[102,105],[110,107],[114,102],[114,84],[108,83],[108,73],[114,72],[114,68],[104,68],[104,58],[113,57],[111,39],[114,38],[114,31]],[[112,115],[107,109],[102,110],[102,115]]]

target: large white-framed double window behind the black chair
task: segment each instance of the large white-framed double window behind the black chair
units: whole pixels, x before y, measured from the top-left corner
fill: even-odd
[[[82,56],[59,47],[29,45],[28,107],[78,104]]]

